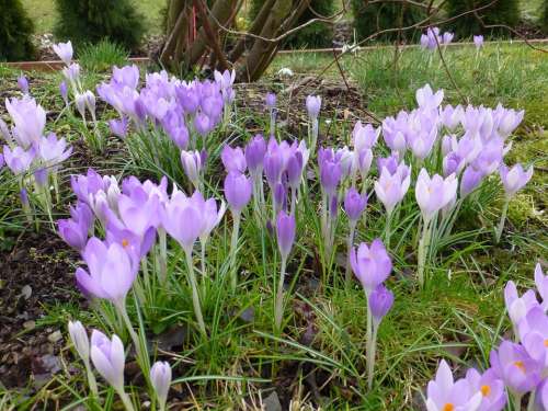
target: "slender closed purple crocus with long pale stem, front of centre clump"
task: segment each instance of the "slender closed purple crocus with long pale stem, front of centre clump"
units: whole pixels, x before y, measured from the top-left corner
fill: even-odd
[[[295,242],[296,222],[295,216],[279,212],[276,218],[276,238],[282,264],[279,267],[279,282],[276,292],[276,300],[274,308],[274,323],[276,331],[282,330],[282,317],[284,315],[284,282],[287,266],[287,258],[292,252],[293,243]]]

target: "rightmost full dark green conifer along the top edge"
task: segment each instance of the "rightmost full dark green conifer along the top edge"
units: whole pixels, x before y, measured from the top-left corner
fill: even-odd
[[[446,3],[448,16],[460,15],[452,24],[455,32],[460,36],[471,36],[480,33],[494,36],[509,35],[509,31],[503,27],[484,28],[483,24],[502,24],[515,27],[520,22],[518,0],[498,0],[494,4],[489,5],[490,3],[492,3],[492,0],[448,0]],[[477,13],[461,15],[477,9],[481,10]]]

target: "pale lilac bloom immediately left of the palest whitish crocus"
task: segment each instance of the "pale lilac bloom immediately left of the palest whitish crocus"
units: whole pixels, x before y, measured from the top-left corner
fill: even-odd
[[[381,164],[380,178],[375,182],[375,194],[385,206],[386,212],[390,214],[409,190],[411,171],[403,162],[397,167],[393,173],[390,173],[386,165]]]

